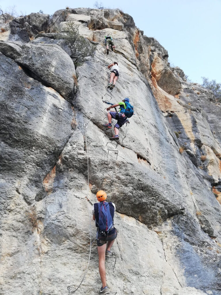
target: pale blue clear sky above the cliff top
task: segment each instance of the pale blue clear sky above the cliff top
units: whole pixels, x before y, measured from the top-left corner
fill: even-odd
[[[171,66],[180,67],[191,82],[202,76],[221,83],[221,0],[97,1],[104,8],[130,14],[144,35],[154,37],[168,51]],[[95,0],[0,0],[0,7],[17,15],[58,9],[90,7]]]

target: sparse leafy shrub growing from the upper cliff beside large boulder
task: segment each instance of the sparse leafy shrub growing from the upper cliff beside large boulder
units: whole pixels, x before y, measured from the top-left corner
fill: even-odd
[[[93,55],[96,45],[91,44],[89,40],[79,34],[78,25],[73,22],[67,22],[66,34],[62,35],[62,39],[71,50],[71,58],[75,67],[80,65],[86,56]]]

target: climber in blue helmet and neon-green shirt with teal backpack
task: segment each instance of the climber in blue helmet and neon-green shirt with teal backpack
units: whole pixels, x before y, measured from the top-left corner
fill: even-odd
[[[103,124],[104,127],[112,128],[111,120],[116,119],[117,123],[114,125],[113,137],[110,137],[110,140],[119,140],[119,128],[126,123],[127,119],[133,116],[133,106],[130,104],[128,97],[125,97],[118,104],[111,105],[107,108],[107,111],[110,111],[111,108],[116,108],[120,106],[120,113],[118,112],[109,112],[108,113],[108,124]]]

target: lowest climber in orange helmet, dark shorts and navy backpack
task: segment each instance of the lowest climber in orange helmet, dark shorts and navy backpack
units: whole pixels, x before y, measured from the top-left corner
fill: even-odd
[[[92,214],[97,227],[96,239],[98,245],[99,273],[102,281],[100,294],[107,294],[109,293],[109,288],[106,283],[105,257],[112,256],[110,248],[117,237],[117,230],[113,224],[114,211],[116,208],[114,203],[106,201],[107,194],[105,191],[98,191],[96,196],[99,203],[94,204]]]

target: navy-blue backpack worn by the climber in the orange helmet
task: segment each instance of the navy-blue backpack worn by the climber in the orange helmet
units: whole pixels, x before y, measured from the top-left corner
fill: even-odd
[[[110,215],[108,202],[98,203],[98,217],[97,223],[99,232],[109,232],[113,227],[113,218]]]

